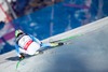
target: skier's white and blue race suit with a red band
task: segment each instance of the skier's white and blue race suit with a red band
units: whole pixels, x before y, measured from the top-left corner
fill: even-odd
[[[15,49],[17,56],[21,57],[21,53],[35,55],[41,47],[51,46],[50,43],[41,43],[37,38],[30,34],[21,34],[16,38]]]

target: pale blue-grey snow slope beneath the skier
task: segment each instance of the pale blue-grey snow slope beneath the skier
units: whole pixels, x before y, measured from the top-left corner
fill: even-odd
[[[108,72],[108,17],[51,37],[43,42],[77,35],[72,44],[28,57],[16,70],[15,51],[0,56],[0,72]]]

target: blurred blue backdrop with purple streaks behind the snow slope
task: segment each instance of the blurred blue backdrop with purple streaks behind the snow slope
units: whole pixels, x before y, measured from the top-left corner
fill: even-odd
[[[14,31],[39,40],[108,15],[108,0],[0,0],[0,55],[14,49]]]

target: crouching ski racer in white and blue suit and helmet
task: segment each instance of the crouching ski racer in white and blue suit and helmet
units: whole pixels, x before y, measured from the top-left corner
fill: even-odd
[[[15,31],[15,49],[19,60],[25,58],[24,54],[35,55],[41,48],[63,45],[64,43],[42,43],[31,34],[27,34],[21,29]]]

